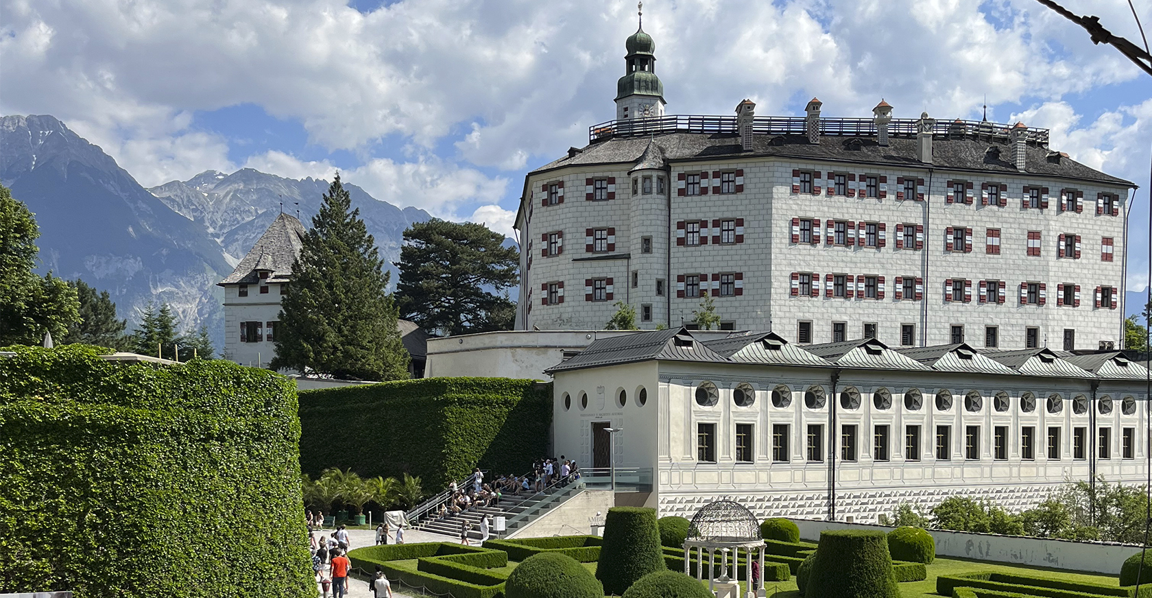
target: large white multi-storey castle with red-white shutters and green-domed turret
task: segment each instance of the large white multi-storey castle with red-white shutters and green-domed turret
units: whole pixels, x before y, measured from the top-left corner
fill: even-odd
[[[655,44],[627,40],[616,120],[528,174],[520,330],[596,330],[634,305],[679,327],[798,343],[1114,348],[1131,182],[987,121],[665,115]]]

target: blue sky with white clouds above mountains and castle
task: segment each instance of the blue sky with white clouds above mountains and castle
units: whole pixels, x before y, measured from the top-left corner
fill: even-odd
[[[1127,1],[1064,0],[1138,41]],[[1136,2],[1152,23],[1152,0]],[[0,0],[0,113],[53,114],[141,183],[340,169],[379,199],[511,233],[524,173],[614,114],[631,1]],[[1034,0],[650,0],[673,114],[1024,121],[1135,181],[1146,277],[1152,77]]]

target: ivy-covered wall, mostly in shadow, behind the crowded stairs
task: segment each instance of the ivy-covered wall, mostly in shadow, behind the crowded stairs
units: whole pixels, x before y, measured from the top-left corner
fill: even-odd
[[[419,476],[425,489],[473,467],[523,472],[548,449],[552,384],[423,378],[300,393],[301,469]]]

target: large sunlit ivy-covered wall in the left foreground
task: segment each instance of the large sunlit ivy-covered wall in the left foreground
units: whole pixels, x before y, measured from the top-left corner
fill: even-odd
[[[0,592],[311,597],[296,392],[225,361],[0,357]]]

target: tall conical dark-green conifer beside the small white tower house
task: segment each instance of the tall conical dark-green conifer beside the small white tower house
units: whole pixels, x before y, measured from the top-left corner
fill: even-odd
[[[281,300],[274,370],[336,378],[408,378],[408,351],[396,330],[388,274],[359,210],[338,175],[293,263],[291,293]]]

